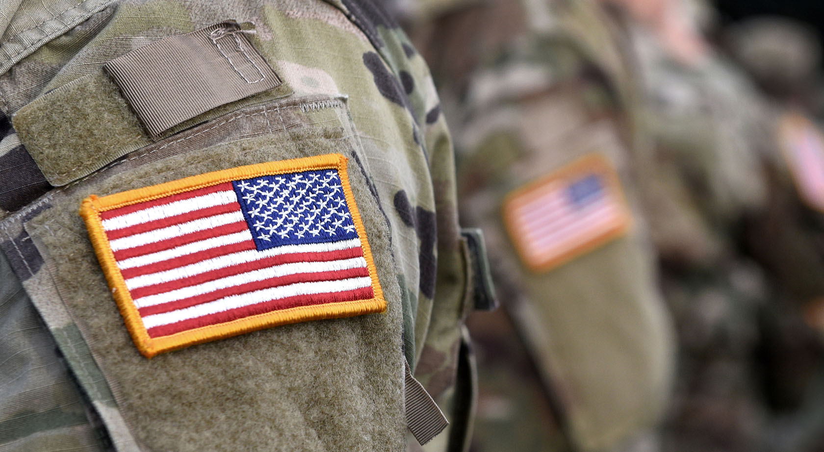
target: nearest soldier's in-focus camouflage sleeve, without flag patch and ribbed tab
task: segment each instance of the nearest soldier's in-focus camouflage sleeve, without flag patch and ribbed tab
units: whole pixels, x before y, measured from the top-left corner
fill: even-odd
[[[150,137],[101,65],[226,20],[282,83]],[[0,35],[0,450],[403,450],[405,360],[452,421],[429,447],[463,449],[476,240],[428,69],[379,7],[3,2]],[[349,157],[386,313],[140,356],[81,199],[322,151]]]

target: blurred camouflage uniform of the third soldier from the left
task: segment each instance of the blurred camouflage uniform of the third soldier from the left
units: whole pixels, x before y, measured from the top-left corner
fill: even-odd
[[[792,282],[773,273],[783,265],[775,259],[808,251],[764,221],[789,220],[775,216],[784,204],[770,187],[779,153],[770,113],[684,23],[683,2],[658,2],[660,16],[648,19],[627,3],[615,12],[639,60],[656,142],[641,191],[681,346],[664,449],[791,450],[782,416],[802,404],[822,354]]]

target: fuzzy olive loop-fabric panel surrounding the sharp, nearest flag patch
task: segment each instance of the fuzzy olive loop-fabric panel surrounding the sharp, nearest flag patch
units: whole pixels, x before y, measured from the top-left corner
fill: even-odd
[[[42,241],[44,252],[67,264],[55,275],[62,295],[91,338],[92,352],[127,422],[149,450],[277,450],[289,444],[300,444],[304,450],[402,447],[400,432],[405,421],[399,406],[403,399],[398,397],[402,375],[397,370],[403,367],[397,361],[401,356],[398,303],[390,303],[385,315],[287,325],[146,360],[124,329],[90,245],[82,240],[85,227],[73,215],[75,206],[90,193],[103,195],[256,161],[321,155],[349,147],[346,142],[313,136],[311,131],[305,135],[249,138],[143,165],[140,170],[87,184],[61,203],[62,209],[44,212],[29,223],[30,234]],[[376,200],[359,171],[350,175],[376,267],[392,268],[388,231]],[[398,300],[396,282],[380,270],[379,276],[386,299]],[[363,360],[367,360],[366,367]],[[347,415],[311,415],[309,408],[319,403],[329,412]],[[269,419],[278,422],[270,424]],[[250,428],[268,433],[250,436]],[[201,431],[213,436],[203,436]]]

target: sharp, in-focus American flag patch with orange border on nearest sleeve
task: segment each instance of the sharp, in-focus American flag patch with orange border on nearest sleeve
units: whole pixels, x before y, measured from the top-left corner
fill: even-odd
[[[241,166],[82,203],[143,355],[386,310],[346,158]]]

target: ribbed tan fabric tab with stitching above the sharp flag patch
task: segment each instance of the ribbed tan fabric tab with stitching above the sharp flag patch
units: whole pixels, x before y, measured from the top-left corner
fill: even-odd
[[[280,85],[245,33],[225,21],[135,49],[103,68],[157,137],[186,119]]]

